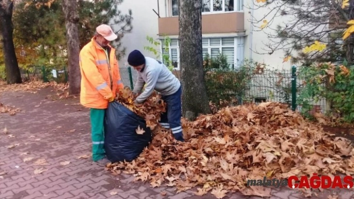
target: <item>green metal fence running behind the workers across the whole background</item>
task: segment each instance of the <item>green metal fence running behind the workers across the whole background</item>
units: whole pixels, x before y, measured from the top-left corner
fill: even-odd
[[[137,72],[131,67],[120,66],[120,77],[124,86],[134,88],[137,80]],[[56,81],[58,83],[68,81],[68,73],[65,67],[44,66],[32,67],[30,70],[21,70],[21,75],[28,79],[41,79],[43,82]],[[175,74],[177,78],[179,75]],[[245,89],[236,94],[237,99],[242,103],[258,104],[263,101],[273,101],[288,104],[292,110],[301,110],[301,104],[297,103],[299,92],[303,88],[301,79],[297,77],[296,67],[290,70],[264,70],[255,74],[247,82]],[[313,111],[325,114],[329,111],[325,99],[310,99]]]

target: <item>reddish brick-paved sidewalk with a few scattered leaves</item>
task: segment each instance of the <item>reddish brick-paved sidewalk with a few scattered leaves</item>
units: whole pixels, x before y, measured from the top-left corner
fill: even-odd
[[[132,182],[132,175],[110,175],[103,167],[92,164],[90,157],[77,159],[91,150],[88,109],[77,105],[78,99],[52,101],[47,95],[55,96],[55,93],[47,88],[37,93],[0,94],[1,103],[21,109],[14,116],[0,114],[0,173],[6,172],[0,179],[0,199],[214,199],[210,194],[194,196],[192,191],[176,194],[170,187],[152,189],[149,184]],[[6,135],[2,133],[5,127]],[[18,146],[7,148],[13,144]],[[24,155],[25,152],[29,153]],[[30,157],[33,159],[23,161]],[[35,166],[38,159],[44,159],[47,164]],[[61,166],[65,161],[70,163]],[[38,168],[46,171],[35,175],[34,170]],[[110,196],[110,192],[117,195]],[[166,195],[162,196],[161,192]],[[274,189],[273,193],[271,199],[303,198],[287,189]],[[350,197],[354,199],[350,193],[340,196],[341,199]],[[234,193],[225,199],[259,197]]]

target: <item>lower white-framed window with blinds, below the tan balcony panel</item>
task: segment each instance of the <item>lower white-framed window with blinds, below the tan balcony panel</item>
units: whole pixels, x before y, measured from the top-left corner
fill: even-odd
[[[212,59],[222,54],[226,56],[227,64],[230,69],[238,68],[243,64],[244,37],[202,38],[201,43],[203,59],[206,54]],[[168,48],[168,51],[166,51],[165,49],[167,48],[162,47],[162,51],[164,54],[168,54],[169,58],[172,60],[174,69],[179,70],[178,39],[171,39]]]

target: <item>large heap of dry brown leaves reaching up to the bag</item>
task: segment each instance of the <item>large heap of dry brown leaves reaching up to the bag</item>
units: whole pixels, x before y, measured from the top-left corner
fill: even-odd
[[[145,102],[135,107],[132,95],[127,89],[124,92],[117,101],[145,119],[153,115],[154,120],[147,121],[154,128],[153,139],[135,160],[108,164],[106,169],[112,175],[121,171],[151,187],[175,187],[177,193],[197,188],[195,195],[211,191],[223,198],[229,192],[270,197],[268,187],[246,186],[247,180],[263,177],[279,180],[317,173],[333,180],[336,173],[354,174],[351,142],[331,137],[287,105],[247,104],[200,115],[195,121],[183,119],[185,142],[180,143],[170,130],[155,126],[164,103]],[[153,95],[149,100],[157,98]]]

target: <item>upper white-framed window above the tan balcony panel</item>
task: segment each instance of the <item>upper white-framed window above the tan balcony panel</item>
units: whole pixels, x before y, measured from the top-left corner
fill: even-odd
[[[243,0],[202,0],[201,12],[242,11]],[[178,16],[178,0],[171,0],[172,16]]]

